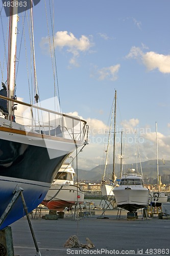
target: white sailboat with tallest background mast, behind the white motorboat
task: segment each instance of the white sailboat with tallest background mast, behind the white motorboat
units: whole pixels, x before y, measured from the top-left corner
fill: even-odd
[[[111,129],[112,129],[113,114],[114,114],[113,173],[112,173],[112,180],[108,182],[108,180],[105,179],[105,175],[106,175],[106,167],[107,167],[107,161],[108,161],[108,152],[109,152],[109,143],[110,143],[110,135],[111,135]],[[109,130],[109,137],[108,137],[108,144],[107,144],[107,151],[106,151],[106,161],[105,161],[104,175],[103,175],[102,185],[101,185],[101,191],[102,191],[103,198],[105,200],[108,200],[112,204],[113,207],[115,204],[115,196],[113,193],[114,181],[115,181],[115,173],[114,173],[114,169],[115,169],[115,124],[116,124],[116,91],[115,91],[115,96],[114,96],[114,104],[112,107],[110,130]]]

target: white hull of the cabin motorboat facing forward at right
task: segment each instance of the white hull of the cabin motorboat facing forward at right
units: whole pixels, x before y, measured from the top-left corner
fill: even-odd
[[[116,205],[130,212],[148,207],[149,190],[139,186],[119,186],[114,188]]]

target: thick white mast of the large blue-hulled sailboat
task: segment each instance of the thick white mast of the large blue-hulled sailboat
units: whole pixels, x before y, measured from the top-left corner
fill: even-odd
[[[14,0],[14,3],[16,0]],[[17,22],[18,22],[18,7],[14,4],[14,7],[10,8],[10,25],[9,25],[9,43],[8,43],[8,71],[7,71],[7,83],[8,83],[8,97],[14,97],[15,87],[15,62],[16,62],[16,36],[17,36]],[[13,115],[12,101],[8,102],[9,116]]]

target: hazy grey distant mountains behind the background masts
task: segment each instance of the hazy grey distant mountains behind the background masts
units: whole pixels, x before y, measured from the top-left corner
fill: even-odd
[[[78,180],[89,180],[89,181],[97,181],[102,180],[104,173],[104,165],[98,165],[91,170],[83,170],[78,169]],[[141,163],[143,177],[145,178],[157,178],[157,161],[156,160],[148,160]],[[108,164],[106,168],[106,176],[108,179],[111,178],[112,175],[112,164]],[[136,163],[133,164],[125,164],[123,166],[123,173],[126,172],[128,168],[136,169]],[[137,169],[140,173],[140,164],[137,163]],[[120,174],[120,164],[115,164],[115,175],[119,177]],[[170,175],[170,160],[159,160],[159,175]]]

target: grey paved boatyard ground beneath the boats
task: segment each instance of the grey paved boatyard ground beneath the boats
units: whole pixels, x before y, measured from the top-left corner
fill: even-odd
[[[170,255],[170,220],[158,216],[148,219],[127,220],[126,211],[116,219],[117,211],[105,212],[105,219],[95,215],[75,220],[70,215],[64,219],[31,219],[41,256],[66,255]],[[140,216],[139,216],[140,217]],[[37,253],[26,217],[11,225],[14,253],[34,256]],[[89,238],[95,248],[65,248],[71,236],[77,236],[82,244]]]

